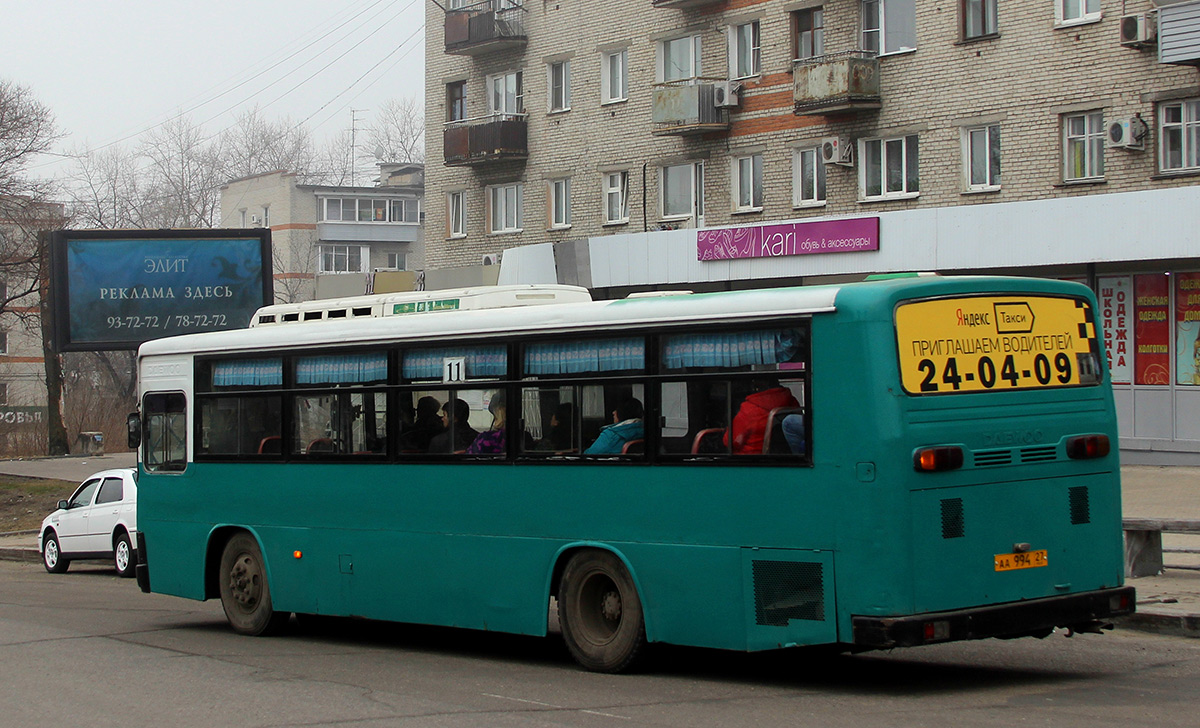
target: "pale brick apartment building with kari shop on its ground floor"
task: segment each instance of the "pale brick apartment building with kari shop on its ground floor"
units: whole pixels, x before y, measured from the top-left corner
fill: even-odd
[[[430,2],[427,265],[1076,278],[1122,446],[1200,458],[1198,64],[1195,0]]]

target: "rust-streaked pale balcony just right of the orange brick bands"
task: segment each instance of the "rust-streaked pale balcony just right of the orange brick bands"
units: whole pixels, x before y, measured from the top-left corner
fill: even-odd
[[[797,116],[853,114],[883,106],[880,59],[866,50],[800,59],[792,76]]]

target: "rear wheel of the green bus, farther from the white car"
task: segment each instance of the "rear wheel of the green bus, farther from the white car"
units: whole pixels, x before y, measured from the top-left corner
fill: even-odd
[[[606,550],[580,552],[566,562],[558,620],[571,656],[593,672],[624,672],[646,646],[637,588],[620,559]]]

